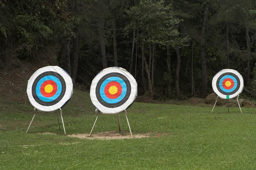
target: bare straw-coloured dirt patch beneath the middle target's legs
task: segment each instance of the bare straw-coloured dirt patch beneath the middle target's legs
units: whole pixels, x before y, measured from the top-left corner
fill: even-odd
[[[86,139],[102,139],[102,140],[111,140],[111,139],[131,139],[131,138],[148,138],[148,137],[160,137],[166,135],[165,134],[160,134],[160,133],[146,133],[146,134],[135,134],[131,136],[129,132],[116,132],[116,131],[111,131],[111,132],[104,132],[104,133],[93,133],[90,137],[89,134],[83,133],[83,134],[73,134],[73,135],[67,135],[69,137],[74,137],[74,138],[86,138]]]

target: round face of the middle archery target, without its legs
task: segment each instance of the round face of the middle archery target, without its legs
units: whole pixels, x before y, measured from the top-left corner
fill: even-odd
[[[127,109],[137,97],[137,82],[121,67],[103,69],[93,79],[90,98],[103,114],[117,114]]]

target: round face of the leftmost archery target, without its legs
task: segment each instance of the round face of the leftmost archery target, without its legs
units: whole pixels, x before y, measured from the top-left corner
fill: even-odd
[[[38,69],[29,79],[27,94],[38,110],[49,112],[63,107],[73,94],[73,83],[64,69],[46,66]]]

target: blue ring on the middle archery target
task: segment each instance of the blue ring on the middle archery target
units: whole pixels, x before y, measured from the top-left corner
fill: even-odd
[[[116,81],[118,82],[119,84],[121,84],[122,86],[122,93],[119,95],[118,98],[108,98],[106,95],[105,95],[105,86],[110,83],[111,81]],[[109,103],[109,104],[115,104],[115,103],[118,103],[119,101],[122,101],[122,99],[125,97],[126,95],[126,91],[127,91],[127,86],[125,84],[125,81],[123,81],[121,78],[119,77],[110,77],[110,78],[107,78],[105,81],[103,81],[103,83],[101,84],[100,86],[100,89],[99,89],[99,93],[100,93],[100,96],[102,97],[102,99]]]

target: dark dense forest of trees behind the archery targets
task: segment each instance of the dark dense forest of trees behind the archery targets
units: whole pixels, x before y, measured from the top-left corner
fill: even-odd
[[[59,65],[87,90],[120,66],[138,95],[205,98],[235,69],[254,97],[255,52],[255,0],[0,0],[0,69]]]

